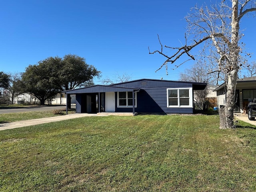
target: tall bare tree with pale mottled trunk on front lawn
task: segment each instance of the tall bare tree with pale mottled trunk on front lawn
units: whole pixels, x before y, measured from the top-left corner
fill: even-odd
[[[222,0],[219,4],[212,4],[210,7],[194,7],[190,14],[186,16],[188,22],[188,34],[185,34],[185,45],[181,47],[164,46],[173,50],[170,56],[161,50],[150,52],[150,54],[159,53],[166,58],[166,61],[160,66],[167,68],[168,63],[175,63],[181,56],[188,56],[188,60],[195,60],[191,50],[195,47],[203,47],[205,58],[211,60],[216,65],[216,72],[225,74],[226,82],[226,104],[220,108],[220,128],[234,127],[234,104],[236,79],[240,65],[244,63],[241,57],[242,48],[238,43],[242,38],[239,34],[240,21],[248,14],[255,14],[256,0]],[[187,42],[188,36],[192,36],[192,41]],[[218,56],[218,60],[217,59]],[[186,62],[186,61],[184,61]],[[182,62],[181,64],[183,64]],[[176,65],[176,67],[181,64]]]

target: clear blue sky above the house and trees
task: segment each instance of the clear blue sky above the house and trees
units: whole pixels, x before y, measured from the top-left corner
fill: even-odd
[[[186,32],[184,16],[196,3],[204,2],[210,1],[3,0],[0,71],[24,72],[29,64],[50,56],[76,54],[100,70],[102,79],[126,73],[133,80],[178,80],[179,73],[192,63],[169,69],[168,76],[164,68],[155,72],[164,58],[148,54],[148,46],[151,51],[160,48],[157,34],[163,44],[180,46]],[[241,24],[249,52],[255,50],[255,23],[251,17]],[[98,79],[94,82],[100,84]]]

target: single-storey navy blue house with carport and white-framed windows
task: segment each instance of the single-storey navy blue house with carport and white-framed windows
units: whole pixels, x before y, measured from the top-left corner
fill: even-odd
[[[64,91],[76,95],[76,113],[193,113],[194,90],[207,83],[140,79]]]

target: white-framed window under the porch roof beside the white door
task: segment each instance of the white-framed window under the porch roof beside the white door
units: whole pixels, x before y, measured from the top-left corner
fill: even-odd
[[[132,107],[132,91],[118,92],[118,107]],[[134,94],[134,103],[136,107],[137,93]]]

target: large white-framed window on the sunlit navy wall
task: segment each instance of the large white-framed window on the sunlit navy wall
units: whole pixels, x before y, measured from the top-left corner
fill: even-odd
[[[193,107],[192,88],[167,89],[167,107]]]

